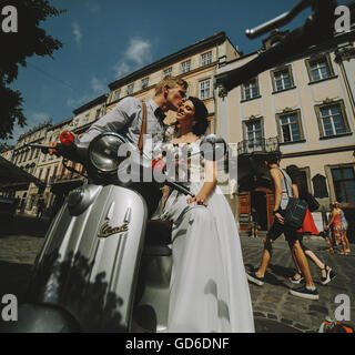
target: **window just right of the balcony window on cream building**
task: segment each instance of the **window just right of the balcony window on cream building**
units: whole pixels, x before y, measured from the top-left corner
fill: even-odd
[[[278,138],[282,143],[300,142],[303,138],[301,111],[276,115]]]

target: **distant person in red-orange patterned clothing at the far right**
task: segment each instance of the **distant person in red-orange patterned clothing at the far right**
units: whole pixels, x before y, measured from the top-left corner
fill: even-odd
[[[344,223],[344,212],[339,207],[338,202],[331,203],[331,221],[329,223],[325,226],[325,230],[328,230],[332,227],[333,230],[333,237],[334,241],[337,243],[337,245],[341,246],[341,252],[338,254],[341,255],[348,255],[351,250],[348,245],[348,240],[346,236],[346,224]],[[343,217],[342,217],[343,214]],[[342,221],[343,220],[343,221]]]

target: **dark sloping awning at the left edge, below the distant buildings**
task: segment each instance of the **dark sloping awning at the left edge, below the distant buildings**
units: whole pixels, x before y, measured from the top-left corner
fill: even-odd
[[[0,156],[0,190],[27,190],[29,184],[43,185],[43,182]]]

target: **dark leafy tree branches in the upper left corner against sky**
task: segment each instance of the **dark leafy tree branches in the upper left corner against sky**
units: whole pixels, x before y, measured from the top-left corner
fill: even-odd
[[[14,13],[2,12],[0,17],[0,139],[12,139],[13,125],[24,126],[23,99],[19,91],[8,85],[18,78],[19,64],[27,67],[26,60],[33,54],[51,58],[62,43],[40,28],[48,17],[65,12],[50,6],[49,0],[7,0],[7,9],[13,7]],[[0,4],[0,13],[4,6]],[[2,21],[2,27],[1,27]],[[11,21],[17,21],[11,23]],[[6,24],[4,24],[6,22]],[[10,29],[6,31],[6,28]],[[11,31],[12,28],[12,31]]]

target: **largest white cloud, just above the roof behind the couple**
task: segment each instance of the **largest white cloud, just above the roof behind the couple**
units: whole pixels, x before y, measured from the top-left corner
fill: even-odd
[[[152,61],[152,44],[149,40],[140,37],[130,39],[126,50],[123,52],[123,59],[120,60],[113,70],[118,78],[125,75],[130,71],[142,67]]]

